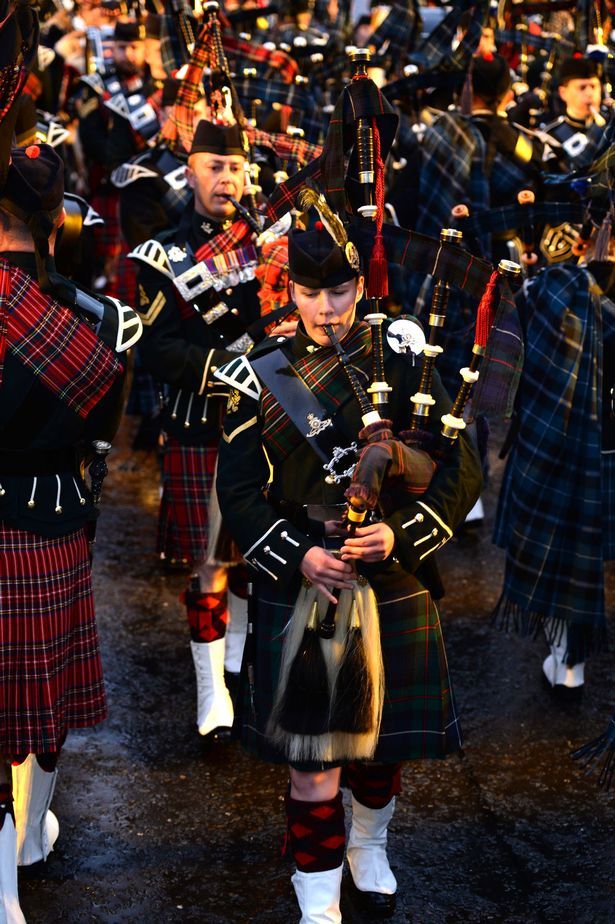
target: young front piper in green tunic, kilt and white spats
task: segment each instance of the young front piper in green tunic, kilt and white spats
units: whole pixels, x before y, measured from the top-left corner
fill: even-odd
[[[349,888],[373,920],[390,917],[395,909],[397,884],[386,841],[401,762],[442,758],[461,744],[430,591],[437,594],[439,588],[433,552],[478,497],[480,467],[462,437],[422,496],[391,493],[386,515],[379,513],[354,536],[348,534],[340,524],[348,478],[340,473],[352,471],[355,459],[346,455],[337,462],[336,483],[314,444],[320,440],[322,448],[328,440],[329,446],[346,448],[362,429],[360,409],[325,326],[333,328],[367,385],[370,331],[356,318],[363,277],[352,243],[341,247],[324,229],[292,232],[289,262],[290,292],[301,318],[296,334],[265,341],[218,373],[232,386],[218,496],[255,586],[243,741],[266,760],[290,764],[285,806],[302,924],[341,921],[346,847]],[[392,387],[386,416],[398,433],[408,428],[420,369],[386,347],[385,368]],[[435,379],[429,419],[437,432],[450,400]],[[331,640],[320,637],[329,603],[337,604]],[[346,650],[343,639],[359,624],[363,640],[375,631],[370,638],[382,649],[383,678],[378,665],[366,665],[366,673],[371,671],[373,691],[383,679],[384,706],[375,722],[362,725],[346,716],[345,724],[336,724],[345,655],[338,661],[335,646],[338,654]],[[360,644],[355,654],[359,649]],[[367,649],[365,644],[364,653]],[[325,700],[314,685],[324,662]],[[333,678],[330,686],[327,678]],[[342,780],[352,791],[347,843]]]

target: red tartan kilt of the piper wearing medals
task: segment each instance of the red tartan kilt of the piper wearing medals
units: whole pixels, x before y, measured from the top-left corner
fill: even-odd
[[[156,551],[167,559],[205,561],[209,538],[209,498],[218,449],[182,446],[167,437],[162,458],[162,499]]]

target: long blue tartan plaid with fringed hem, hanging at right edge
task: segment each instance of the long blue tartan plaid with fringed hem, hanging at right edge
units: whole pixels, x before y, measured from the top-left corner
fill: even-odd
[[[602,318],[586,269],[553,266],[529,286],[519,428],[500,494],[494,542],[506,550],[496,618],[517,631],[544,620],[575,627],[585,660],[605,642],[601,472]]]

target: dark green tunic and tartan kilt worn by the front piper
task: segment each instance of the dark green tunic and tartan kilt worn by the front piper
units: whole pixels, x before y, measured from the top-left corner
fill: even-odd
[[[259,354],[274,346],[279,344],[267,341],[249,354],[250,360],[257,366]],[[368,326],[355,324],[344,347],[367,383]],[[332,416],[340,443],[348,446],[361,429],[360,413],[333,350],[313,344],[301,327],[283,349]],[[393,353],[386,355],[386,368],[393,387],[387,413],[399,432],[408,427],[410,396],[418,389],[420,369],[411,359]],[[320,457],[267,387],[261,387],[245,357],[221,374],[235,382],[236,390],[231,391],[220,444],[218,498],[224,521],[256,583],[255,697],[254,708],[248,703],[243,717],[244,742],[262,757],[284,761],[285,755],[272,748],[265,732],[283,630],[300,587],[301,561],[312,546],[325,544],[318,520],[334,518],[336,508],[339,516],[347,481],[325,481]],[[451,402],[437,375],[434,397],[431,420],[439,430],[440,417],[450,411]],[[380,611],[386,691],[376,760],[444,757],[460,746],[440,623],[430,594],[430,590],[441,592],[432,556],[463,521],[480,486],[476,454],[462,436],[423,497],[404,500],[398,507],[394,504],[387,513],[385,522],[395,534],[392,556],[379,564],[358,563]],[[339,546],[339,538],[334,541]]]

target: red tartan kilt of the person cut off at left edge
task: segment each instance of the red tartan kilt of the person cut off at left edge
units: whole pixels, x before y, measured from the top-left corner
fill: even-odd
[[[58,751],[107,716],[84,529],[0,523],[0,753]]]

